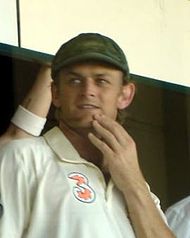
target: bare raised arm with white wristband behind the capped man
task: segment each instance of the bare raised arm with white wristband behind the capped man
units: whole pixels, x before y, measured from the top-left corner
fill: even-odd
[[[0,136],[0,147],[12,139],[38,136],[41,133],[51,105],[51,82],[50,64],[42,65],[8,129]]]

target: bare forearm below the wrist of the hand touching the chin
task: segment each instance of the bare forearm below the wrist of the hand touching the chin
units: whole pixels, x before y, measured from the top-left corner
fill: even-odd
[[[145,182],[128,186],[125,191],[128,214],[137,238],[174,238],[156,207]]]

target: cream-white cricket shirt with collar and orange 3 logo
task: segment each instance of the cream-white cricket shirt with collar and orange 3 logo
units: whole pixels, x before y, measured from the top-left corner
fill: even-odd
[[[1,238],[135,237],[121,193],[57,127],[6,144],[0,159]]]

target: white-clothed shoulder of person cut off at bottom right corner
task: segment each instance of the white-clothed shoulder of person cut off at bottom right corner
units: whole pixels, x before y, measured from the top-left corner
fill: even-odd
[[[176,202],[166,211],[168,224],[178,238],[190,237],[190,196]]]

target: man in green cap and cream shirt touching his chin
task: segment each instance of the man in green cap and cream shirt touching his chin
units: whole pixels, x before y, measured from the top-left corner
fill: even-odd
[[[135,94],[121,48],[80,34],[56,53],[52,78],[59,127],[0,151],[0,237],[174,237],[116,122]]]

